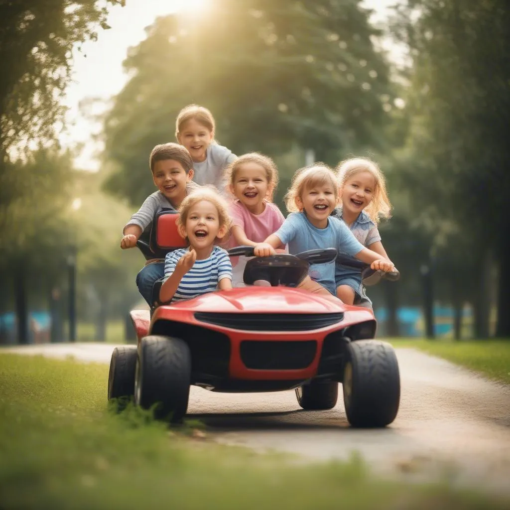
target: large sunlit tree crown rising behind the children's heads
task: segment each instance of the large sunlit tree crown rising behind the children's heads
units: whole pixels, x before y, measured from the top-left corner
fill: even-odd
[[[336,163],[341,151],[380,145],[392,92],[359,4],[221,0],[201,20],[156,20],[130,50],[131,79],[105,120],[105,156],[118,165],[109,189],[134,204],[153,190],[147,156],[174,139],[176,114],[193,102],[212,110],[237,154],[297,145]]]

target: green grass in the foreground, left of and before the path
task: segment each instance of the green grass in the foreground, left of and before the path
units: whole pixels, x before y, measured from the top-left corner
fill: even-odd
[[[378,481],[108,411],[108,367],[0,354],[0,508],[508,508],[446,484]]]

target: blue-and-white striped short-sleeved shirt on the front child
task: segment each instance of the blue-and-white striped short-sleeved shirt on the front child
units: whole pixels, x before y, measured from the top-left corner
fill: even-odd
[[[170,251],[165,258],[165,281],[175,270],[179,259],[189,250],[181,248]],[[218,282],[223,278],[232,279],[232,264],[228,253],[219,246],[213,246],[207,259],[197,260],[193,267],[183,276],[172,301],[191,299],[218,289]]]

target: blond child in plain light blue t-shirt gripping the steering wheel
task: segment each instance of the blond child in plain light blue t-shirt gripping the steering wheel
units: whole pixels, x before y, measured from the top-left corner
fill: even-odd
[[[293,254],[336,248],[371,264],[372,269],[392,270],[391,262],[381,260],[378,253],[364,248],[344,223],[330,217],[337,202],[338,183],[329,167],[315,165],[298,170],[286,194],[286,205],[291,214],[275,234],[255,247],[255,254],[269,256],[276,246],[287,243],[289,252]],[[334,263],[311,265],[310,277],[330,294],[336,295]],[[311,290],[309,285],[310,282],[305,280],[300,287]],[[320,288],[313,290],[319,293]]]

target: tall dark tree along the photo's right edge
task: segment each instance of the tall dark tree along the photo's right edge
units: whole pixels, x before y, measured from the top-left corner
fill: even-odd
[[[418,16],[411,21],[413,9]],[[500,336],[510,336],[510,276],[501,236],[510,192],[510,148],[503,134],[510,121],[509,21],[503,0],[410,0],[397,30],[412,57],[410,165],[403,178],[414,190],[415,212],[431,222],[436,241],[454,240],[445,267],[464,271],[464,279],[474,282],[487,272],[491,252],[498,261]],[[475,287],[477,335],[487,336],[487,278]]]

